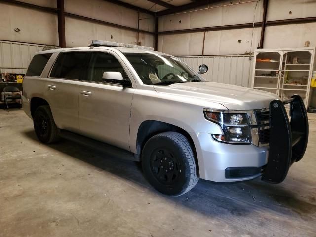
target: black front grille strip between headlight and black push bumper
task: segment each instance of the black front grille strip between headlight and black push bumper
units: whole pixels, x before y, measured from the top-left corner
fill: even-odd
[[[258,140],[259,146],[261,145],[268,145],[270,141],[270,127],[269,127],[269,119],[270,113],[269,110],[258,110],[255,111],[256,121],[257,121],[257,128],[258,128]]]

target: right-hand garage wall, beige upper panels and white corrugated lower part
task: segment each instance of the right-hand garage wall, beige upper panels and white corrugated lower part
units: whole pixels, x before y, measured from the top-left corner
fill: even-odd
[[[267,21],[315,17],[315,9],[316,1],[269,0]],[[210,70],[203,75],[208,81],[250,87],[252,55],[260,44],[260,26],[205,31],[205,39],[204,31],[168,31],[256,23],[262,19],[263,0],[222,1],[187,13],[162,16],[158,23],[158,51],[179,56],[194,70],[200,64],[208,65]],[[263,48],[304,47],[306,41],[311,47],[316,46],[316,22],[266,26]]]

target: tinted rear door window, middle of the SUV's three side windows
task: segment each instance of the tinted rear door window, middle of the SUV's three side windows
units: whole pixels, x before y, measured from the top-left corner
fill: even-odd
[[[52,78],[82,79],[87,67],[87,52],[60,53],[50,73]]]

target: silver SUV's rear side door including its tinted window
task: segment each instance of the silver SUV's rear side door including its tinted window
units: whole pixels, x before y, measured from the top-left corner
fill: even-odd
[[[79,132],[78,98],[80,81],[86,74],[89,52],[62,52],[46,84],[46,98],[57,126]]]

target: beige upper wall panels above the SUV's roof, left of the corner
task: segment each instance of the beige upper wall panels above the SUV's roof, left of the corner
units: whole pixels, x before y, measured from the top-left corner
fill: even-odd
[[[19,0],[56,8],[56,0]],[[57,13],[45,12],[0,1],[0,40],[58,46]],[[84,9],[84,10],[83,10]],[[65,12],[137,29],[138,12],[103,0],[65,0]],[[144,19],[146,18],[146,19]],[[139,29],[154,32],[154,17],[139,14]],[[16,32],[14,29],[20,31]],[[67,47],[87,46],[91,40],[109,40],[136,44],[137,32],[120,29],[76,17],[65,17]],[[154,46],[153,34],[139,33],[139,44]]]

